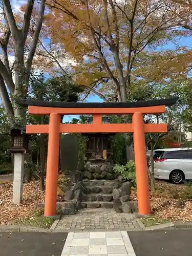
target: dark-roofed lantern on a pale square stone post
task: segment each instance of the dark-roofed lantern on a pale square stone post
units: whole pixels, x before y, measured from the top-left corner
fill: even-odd
[[[20,204],[23,198],[24,154],[28,152],[29,135],[25,126],[18,124],[4,134],[11,136],[9,151],[14,154],[13,203]]]

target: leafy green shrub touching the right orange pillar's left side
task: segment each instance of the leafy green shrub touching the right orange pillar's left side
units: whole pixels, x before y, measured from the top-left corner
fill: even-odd
[[[136,172],[135,172],[135,162],[129,161],[125,165],[115,164],[113,167],[116,174],[121,175],[124,180],[131,181],[133,186],[136,186]]]

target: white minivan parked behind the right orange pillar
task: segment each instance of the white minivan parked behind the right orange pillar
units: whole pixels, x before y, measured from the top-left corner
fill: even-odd
[[[154,150],[155,178],[181,184],[192,180],[192,148],[163,148]]]

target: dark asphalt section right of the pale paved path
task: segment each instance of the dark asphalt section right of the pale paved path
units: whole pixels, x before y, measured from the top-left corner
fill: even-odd
[[[127,232],[137,256],[191,256],[192,230]]]

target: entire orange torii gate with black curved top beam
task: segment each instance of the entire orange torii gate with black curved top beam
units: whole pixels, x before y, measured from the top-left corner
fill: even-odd
[[[161,114],[165,106],[173,105],[177,98],[125,103],[73,103],[17,100],[28,106],[30,114],[50,115],[49,124],[27,125],[26,133],[48,133],[48,158],[46,174],[45,216],[56,214],[57,177],[60,133],[133,133],[137,177],[137,197],[140,215],[150,214],[145,133],[167,132],[166,124],[144,124],[143,115]],[[60,115],[93,115],[92,124],[61,124]],[[102,115],[133,116],[132,123],[102,123]]]

